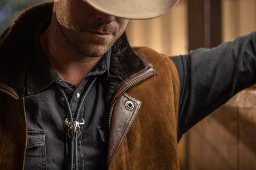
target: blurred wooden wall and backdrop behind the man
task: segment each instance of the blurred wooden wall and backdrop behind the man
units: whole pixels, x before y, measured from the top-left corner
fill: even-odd
[[[0,0],[0,33],[28,6],[45,1]],[[180,0],[167,14],[130,21],[132,46],[169,56],[214,47],[256,28],[256,0]],[[256,88],[245,89],[204,118],[179,142],[181,169],[256,169]]]

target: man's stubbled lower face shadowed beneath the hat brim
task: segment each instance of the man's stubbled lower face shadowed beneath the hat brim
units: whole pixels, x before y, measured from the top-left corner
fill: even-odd
[[[82,0],[55,0],[54,12],[68,43],[89,57],[105,54],[129,22],[128,19],[101,13]]]

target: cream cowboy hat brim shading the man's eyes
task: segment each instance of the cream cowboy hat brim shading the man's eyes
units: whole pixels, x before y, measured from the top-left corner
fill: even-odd
[[[97,10],[127,19],[151,19],[171,10],[179,0],[83,0]]]

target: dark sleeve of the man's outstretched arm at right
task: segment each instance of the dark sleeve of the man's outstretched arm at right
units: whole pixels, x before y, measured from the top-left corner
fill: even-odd
[[[178,140],[191,126],[256,82],[256,32],[171,57],[180,77]]]

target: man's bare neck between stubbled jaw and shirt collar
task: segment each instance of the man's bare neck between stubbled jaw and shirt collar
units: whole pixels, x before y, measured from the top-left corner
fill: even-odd
[[[65,44],[64,38],[61,38],[61,34],[55,31],[51,25],[39,38],[45,56],[54,71],[63,81],[72,83],[76,87],[79,86],[85,75],[94,69],[102,57],[88,57],[78,53],[67,43]],[[57,41],[60,39],[63,40],[62,43]]]

